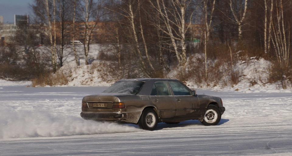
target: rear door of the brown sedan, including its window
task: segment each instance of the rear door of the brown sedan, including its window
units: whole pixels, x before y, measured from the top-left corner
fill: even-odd
[[[150,98],[156,105],[160,118],[168,119],[176,115],[176,100],[171,95],[167,81],[158,81],[153,84]]]

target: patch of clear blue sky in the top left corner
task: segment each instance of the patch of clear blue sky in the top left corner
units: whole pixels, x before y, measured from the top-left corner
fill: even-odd
[[[0,15],[4,18],[4,23],[14,23],[14,15],[30,15],[29,4],[33,0],[0,0]]]

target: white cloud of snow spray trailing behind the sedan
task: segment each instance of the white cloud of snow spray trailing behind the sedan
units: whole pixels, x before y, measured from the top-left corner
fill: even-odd
[[[61,137],[143,131],[133,126],[84,120],[81,117],[54,115],[47,111],[0,111],[0,139]]]

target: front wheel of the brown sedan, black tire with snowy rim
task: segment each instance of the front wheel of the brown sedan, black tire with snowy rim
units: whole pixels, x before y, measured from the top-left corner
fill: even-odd
[[[215,105],[209,105],[207,111],[204,115],[204,120],[202,124],[205,126],[214,126],[221,120],[221,112],[219,108]]]

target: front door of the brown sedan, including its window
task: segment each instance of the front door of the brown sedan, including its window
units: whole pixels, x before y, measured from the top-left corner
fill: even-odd
[[[169,81],[169,84],[176,100],[176,117],[196,116],[200,109],[199,98],[179,81]]]

